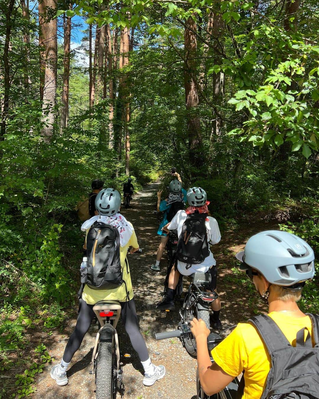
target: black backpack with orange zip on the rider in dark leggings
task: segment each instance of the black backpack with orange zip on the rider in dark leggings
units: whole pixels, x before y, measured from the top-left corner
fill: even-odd
[[[98,221],[93,223],[87,234],[87,259],[87,271],[81,271],[83,284],[105,290],[124,282],[118,229]]]

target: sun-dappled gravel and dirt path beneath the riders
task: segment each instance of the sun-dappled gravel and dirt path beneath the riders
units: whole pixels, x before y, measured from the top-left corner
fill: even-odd
[[[181,342],[173,340],[156,341],[155,332],[175,330],[179,316],[177,311],[160,312],[155,310],[155,304],[161,299],[161,290],[165,279],[166,261],[161,262],[161,272],[150,270],[150,265],[155,262],[155,253],[159,244],[156,235],[159,219],[154,208],[151,196],[158,190],[158,183],[149,184],[144,191],[134,196],[132,208],[121,212],[130,220],[136,230],[141,255],[130,255],[130,271],[135,294],[136,309],[140,321],[140,330],[144,335],[150,357],[155,364],[163,364],[166,367],[166,376],[157,381],[152,387],[144,387],[142,384],[142,365],[130,345],[130,341],[122,325],[118,328],[121,334],[121,350],[131,354],[124,365],[124,385],[126,388],[125,399],[156,399],[175,398],[196,399],[196,360],[191,358],[182,347]],[[272,226],[274,223],[272,223]],[[226,327],[238,321],[245,320],[256,306],[257,302],[251,302],[248,292],[242,293],[238,286],[238,278],[232,277],[231,268],[235,265],[233,253],[242,248],[242,243],[251,233],[272,227],[262,223],[262,227],[256,225],[246,226],[241,233],[229,233],[226,239],[216,245],[214,256],[219,265],[219,291],[222,296],[223,310],[221,319]],[[164,255],[165,257],[165,255]],[[247,298],[246,298],[247,296]],[[245,300],[246,299],[246,300]],[[55,363],[61,359],[65,344],[76,322],[74,317],[67,322],[64,332],[55,332],[51,336],[51,345],[47,345],[50,354],[55,358]],[[89,330],[83,340],[79,351],[72,359],[72,367],[67,372],[69,384],[65,387],[57,387],[55,381],[50,378],[51,365],[45,368],[43,374],[37,380],[37,391],[33,398],[37,399],[93,399],[95,398],[94,377],[89,374],[93,344],[97,327]],[[118,395],[118,398],[120,396]]]

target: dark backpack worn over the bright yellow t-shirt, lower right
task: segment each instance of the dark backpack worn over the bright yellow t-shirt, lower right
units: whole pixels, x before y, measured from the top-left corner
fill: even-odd
[[[271,357],[271,368],[261,399],[319,398],[319,316],[311,318],[315,346],[308,332],[304,342],[302,328],[297,332],[293,347],[277,324],[265,314],[249,322],[257,329]]]

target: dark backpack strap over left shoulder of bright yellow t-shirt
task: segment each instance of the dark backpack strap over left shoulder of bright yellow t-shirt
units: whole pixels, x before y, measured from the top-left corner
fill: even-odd
[[[266,314],[260,314],[248,320],[258,331],[260,338],[266,345],[270,356],[278,350],[291,346],[290,342],[284,336],[282,330]]]

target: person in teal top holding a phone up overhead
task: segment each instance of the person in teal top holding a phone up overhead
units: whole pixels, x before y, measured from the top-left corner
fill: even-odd
[[[186,198],[186,190],[184,190],[182,188],[181,176],[177,172],[173,173],[172,176],[176,176],[177,179],[172,180],[169,183],[168,198],[163,199],[161,201],[161,194],[162,194],[163,190],[159,190],[157,193],[157,211],[163,212],[163,219],[162,219],[160,227],[158,228],[158,231],[157,231],[157,234],[161,237],[161,242],[160,242],[160,246],[158,247],[158,250],[156,253],[156,262],[155,262],[155,265],[151,266],[151,269],[156,272],[160,271],[161,258],[163,256],[163,252],[164,252],[165,246],[168,241],[168,233],[163,231],[162,228],[169,221],[167,219],[167,217],[169,217],[170,209],[175,206],[175,205],[173,205],[173,203],[177,204],[177,203],[182,202],[183,207],[184,207],[184,198]],[[173,211],[173,209],[172,209],[172,211]]]

